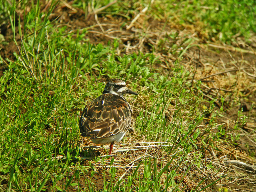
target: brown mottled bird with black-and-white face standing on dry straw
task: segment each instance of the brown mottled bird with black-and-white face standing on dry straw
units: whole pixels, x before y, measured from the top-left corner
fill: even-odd
[[[79,120],[82,137],[91,138],[95,144],[110,143],[109,155],[114,142],[123,139],[132,121],[131,106],[123,96],[126,93],[138,95],[123,80],[109,80],[102,94],[84,107]]]

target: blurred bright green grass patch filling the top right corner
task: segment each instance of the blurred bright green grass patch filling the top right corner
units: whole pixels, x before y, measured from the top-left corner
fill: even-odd
[[[237,1],[156,1],[152,9],[157,10],[155,17],[169,18],[173,23],[195,30],[199,35],[210,40],[230,44],[237,37],[249,38],[256,32],[255,2]]]

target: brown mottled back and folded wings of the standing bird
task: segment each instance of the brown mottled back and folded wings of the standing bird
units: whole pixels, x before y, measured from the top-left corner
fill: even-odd
[[[100,95],[84,108],[79,121],[81,135],[102,139],[127,132],[131,113],[130,106],[122,97],[109,93]]]

